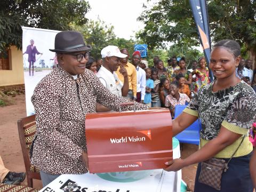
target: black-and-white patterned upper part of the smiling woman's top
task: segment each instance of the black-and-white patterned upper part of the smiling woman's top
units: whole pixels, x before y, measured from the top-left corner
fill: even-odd
[[[223,122],[241,127],[246,133],[256,115],[256,94],[252,87],[241,81],[213,92],[213,83],[202,87],[188,105],[197,111],[202,121],[201,137],[205,140],[217,137]]]

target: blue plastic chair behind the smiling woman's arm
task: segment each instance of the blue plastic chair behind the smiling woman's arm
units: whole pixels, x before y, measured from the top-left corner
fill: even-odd
[[[182,111],[187,107],[187,105],[177,105],[175,107],[174,119],[177,118]],[[186,121],[186,119],[184,119]],[[187,129],[183,130],[175,136],[181,143],[190,143],[199,145],[200,142],[200,130],[201,130],[201,121],[195,121]]]

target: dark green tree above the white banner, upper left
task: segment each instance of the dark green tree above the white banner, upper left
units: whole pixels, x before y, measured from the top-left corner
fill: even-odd
[[[85,0],[2,0],[0,1],[0,51],[22,46],[21,26],[53,30],[84,25],[90,5]]]

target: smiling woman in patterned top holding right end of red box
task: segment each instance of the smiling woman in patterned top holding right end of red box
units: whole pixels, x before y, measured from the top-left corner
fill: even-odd
[[[236,68],[238,75],[242,75],[240,62],[241,49],[237,42],[226,39],[215,44],[211,53],[210,68],[217,79],[202,87],[183,113],[173,121],[175,136],[200,118],[201,148],[185,159],[166,162],[167,171],[178,171],[182,167],[204,162],[212,157],[227,162],[238,149],[228,163],[228,170],[222,174],[221,190],[198,181],[201,173],[199,163],[195,192],[253,191],[249,171],[253,148],[248,132],[255,119],[256,94],[236,76]]]

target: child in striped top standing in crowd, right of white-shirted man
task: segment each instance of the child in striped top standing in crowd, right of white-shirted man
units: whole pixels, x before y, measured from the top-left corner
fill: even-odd
[[[152,69],[152,79],[154,81],[154,89],[151,89],[151,107],[161,107],[159,99],[159,85],[160,81],[157,79],[158,71],[156,68]]]

